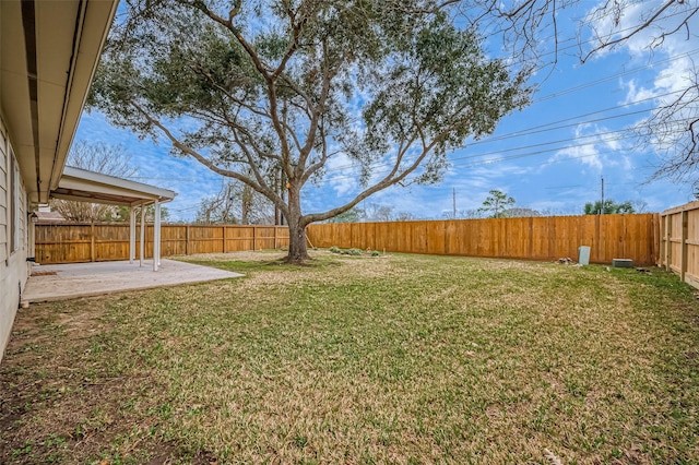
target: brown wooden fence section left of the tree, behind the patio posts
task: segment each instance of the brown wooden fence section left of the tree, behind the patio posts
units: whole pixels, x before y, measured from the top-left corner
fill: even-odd
[[[137,227],[137,259],[141,228]],[[38,263],[129,260],[128,224],[42,224],[35,230]],[[161,226],[161,255],[238,252],[288,246],[286,226]],[[145,227],[145,258],[153,257],[153,226]]]

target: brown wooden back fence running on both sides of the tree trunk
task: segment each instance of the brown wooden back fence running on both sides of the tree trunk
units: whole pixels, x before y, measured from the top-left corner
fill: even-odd
[[[699,208],[699,202],[696,205]],[[699,210],[695,213],[699,220]],[[632,259],[637,264],[654,264],[660,255],[659,223],[657,214],[334,223],[311,225],[307,236],[310,245],[323,248],[337,246],[387,252],[523,260],[577,259],[578,247],[589,246],[592,263]],[[140,238],[139,229],[137,227],[137,238]],[[675,226],[672,230],[680,229]],[[698,238],[690,240],[699,245],[699,227],[692,230],[697,231]],[[145,258],[150,258],[153,255],[152,226],[146,226],[145,238]],[[675,238],[673,236],[673,240]],[[672,243],[679,250],[675,242]],[[286,226],[162,226],[162,257],[286,246]],[[137,258],[138,253],[137,239]],[[46,264],[128,260],[129,225],[36,225],[35,255],[38,263]],[[675,249],[670,253],[673,259],[679,255]],[[694,276],[692,272],[699,274],[699,270],[689,271]]]

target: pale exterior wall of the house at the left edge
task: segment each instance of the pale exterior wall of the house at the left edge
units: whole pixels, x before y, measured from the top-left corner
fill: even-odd
[[[23,177],[19,176],[19,164],[11,160],[13,151],[10,140],[0,115],[0,360],[10,339],[21,293],[31,271],[26,261],[29,250],[27,195]],[[12,168],[15,172],[12,172]],[[16,224],[13,224],[13,219]],[[12,239],[13,235],[15,240]]]

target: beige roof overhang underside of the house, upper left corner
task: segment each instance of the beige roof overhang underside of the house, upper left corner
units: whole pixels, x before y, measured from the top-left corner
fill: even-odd
[[[0,1],[0,104],[32,202],[58,184],[116,5]]]

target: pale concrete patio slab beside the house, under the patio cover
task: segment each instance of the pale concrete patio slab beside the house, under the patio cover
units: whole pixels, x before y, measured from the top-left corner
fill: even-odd
[[[162,260],[156,272],[151,261],[144,262],[143,267],[138,261],[40,265],[34,266],[22,301],[66,300],[239,276],[242,275],[174,260]]]

